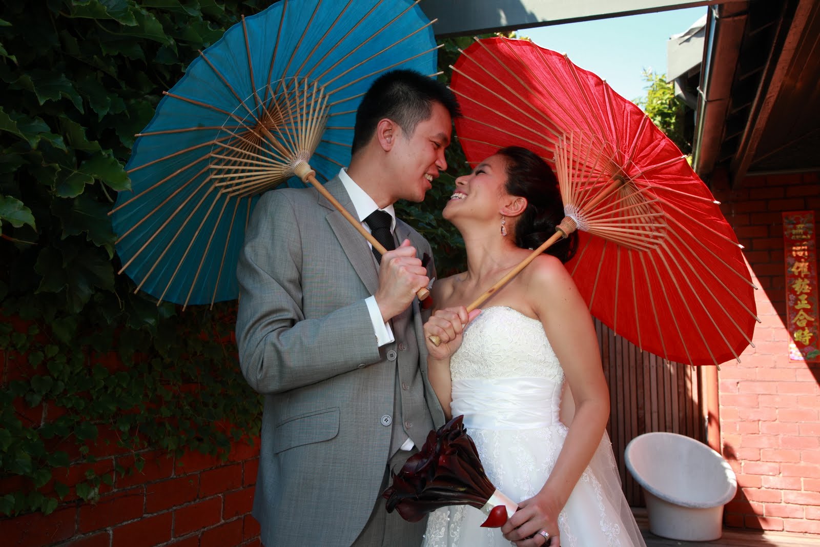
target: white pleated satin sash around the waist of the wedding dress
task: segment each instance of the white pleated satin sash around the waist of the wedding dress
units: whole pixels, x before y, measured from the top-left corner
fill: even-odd
[[[530,429],[559,423],[561,382],[546,378],[453,380],[453,416],[476,429]]]

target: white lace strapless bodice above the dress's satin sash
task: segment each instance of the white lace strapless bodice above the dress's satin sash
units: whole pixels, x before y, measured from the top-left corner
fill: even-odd
[[[563,382],[541,321],[506,306],[484,308],[450,359],[453,380],[535,377]]]

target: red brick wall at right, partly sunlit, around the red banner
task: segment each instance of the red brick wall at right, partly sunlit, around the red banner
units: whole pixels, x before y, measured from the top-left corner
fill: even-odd
[[[729,189],[712,181],[727,221],[745,246],[755,283],[754,344],[719,377],[723,454],[738,493],[727,526],[820,534],[820,364],[789,361],[781,213],[813,210],[818,173],[747,177]]]

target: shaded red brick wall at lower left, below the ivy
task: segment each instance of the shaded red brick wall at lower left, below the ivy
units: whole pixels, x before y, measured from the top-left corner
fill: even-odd
[[[162,452],[143,456],[142,472],[117,476],[112,486],[101,490],[96,504],[73,499],[48,516],[31,513],[0,520],[2,545],[259,545],[259,526],[250,515],[257,448],[235,444],[226,462],[199,453],[180,458]],[[112,454],[95,465],[111,470],[115,465],[128,467],[133,460],[133,455]],[[79,479],[76,468],[69,472]]]

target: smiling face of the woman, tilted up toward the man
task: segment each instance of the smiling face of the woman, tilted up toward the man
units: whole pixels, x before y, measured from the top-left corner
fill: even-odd
[[[449,221],[458,218],[499,219],[501,198],[507,195],[507,162],[498,154],[478,164],[469,175],[456,179],[456,189],[444,206],[442,216]]]

